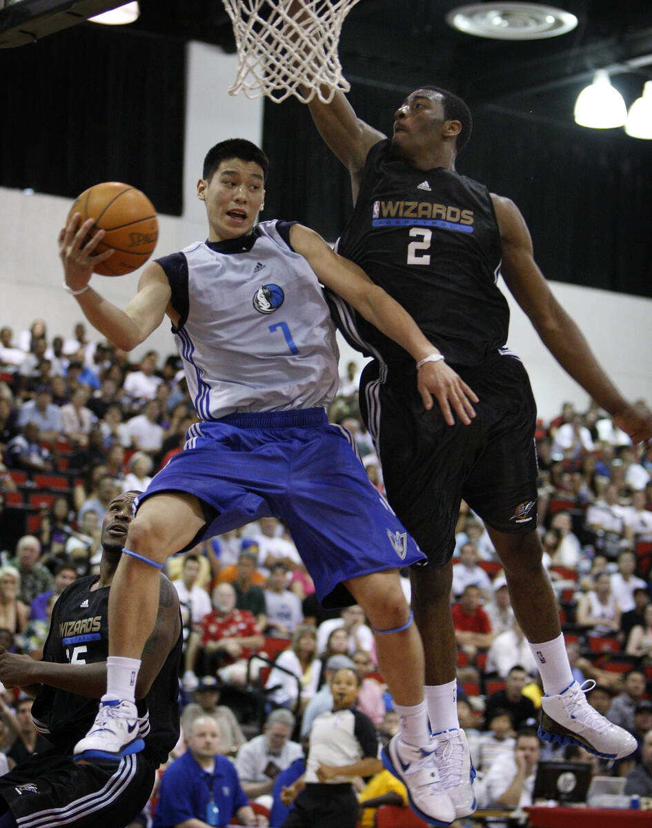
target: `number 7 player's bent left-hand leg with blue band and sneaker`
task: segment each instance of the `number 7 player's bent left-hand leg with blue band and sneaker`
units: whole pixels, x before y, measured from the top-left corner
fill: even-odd
[[[79,758],[116,758],[143,747],[135,691],[143,647],[156,623],[161,567],[204,527],[202,504],[183,492],[156,493],[138,509],[108,598],[107,692],[98,716],[74,748]]]

